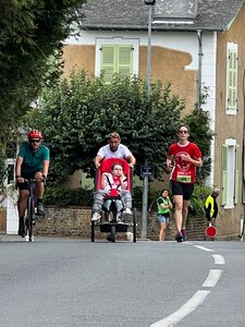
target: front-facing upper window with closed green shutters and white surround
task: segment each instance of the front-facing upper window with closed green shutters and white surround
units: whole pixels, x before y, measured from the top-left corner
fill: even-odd
[[[131,75],[138,73],[137,39],[97,39],[96,41],[96,75],[101,72],[110,82],[114,73]]]

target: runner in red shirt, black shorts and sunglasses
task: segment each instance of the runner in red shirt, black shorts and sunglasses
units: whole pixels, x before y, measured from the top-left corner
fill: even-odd
[[[189,198],[194,190],[196,167],[201,167],[203,161],[198,146],[188,142],[188,128],[181,125],[177,135],[179,143],[172,144],[167,154],[167,167],[172,170],[170,182],[175,204],[174,217],[177,228],[175,240],[183,242],[186,240],[185,222],[188,215]]]

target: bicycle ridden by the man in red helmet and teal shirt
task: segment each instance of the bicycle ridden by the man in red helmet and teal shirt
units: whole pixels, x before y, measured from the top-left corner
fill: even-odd
[[[39,180],[28,179],[25,180],[28,184],[28,198],[26,205],[26,215],[25,215],[25,241],[34,242],[34,226],[35,226],[35,214],[36,214],[36,192],[35,184],[40,182]],[[44,180],[45,182],[45,180]]]

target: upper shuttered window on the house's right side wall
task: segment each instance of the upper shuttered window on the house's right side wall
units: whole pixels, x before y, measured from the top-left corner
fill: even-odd
[[[236,114],[237,109],[237,45],[228,44],[226,59],[226,113]]]

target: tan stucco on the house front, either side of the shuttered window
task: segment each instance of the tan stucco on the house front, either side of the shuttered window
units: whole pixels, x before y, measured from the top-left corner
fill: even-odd
[[[85,70],[95,74],[95,46],[64,47],[64,75],[74,70]],[[192,56],[186,52],[152,47],[151,49],[151,78],[172,83],[172,92],[186,101],[186,112],[191,112],[196,104],[197,71],[185,70],[192,62]],[[145,77],[147,71],[147,47],[139,48],[139,76]]]

